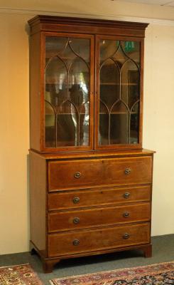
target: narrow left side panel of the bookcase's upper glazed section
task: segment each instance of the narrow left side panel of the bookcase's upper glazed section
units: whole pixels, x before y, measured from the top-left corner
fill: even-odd
[[[40,150],[40,34],[30,38],[30,143]]]

